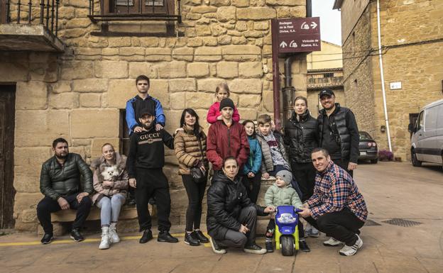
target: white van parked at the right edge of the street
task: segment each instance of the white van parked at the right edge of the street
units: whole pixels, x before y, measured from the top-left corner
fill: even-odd
[[[415,126],[410,125],[410,132],[412,165],[443,165],[443,99],[422,108]]]

